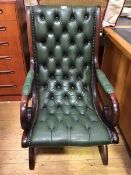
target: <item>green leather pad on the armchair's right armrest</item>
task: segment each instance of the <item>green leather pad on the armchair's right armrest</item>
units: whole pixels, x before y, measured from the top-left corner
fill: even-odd
[[[98,81],[100,82],[103,90],[107,93],[107,94],[111,94],[114,93],[115,90],[113,88],[113,86],[111,85],[111,83],[109,82],[109,80],[107,79],[106,75],[104,74],[103,71],[101,71],[100,69],[96,70],[96,74],[97,74],[97,78]]]

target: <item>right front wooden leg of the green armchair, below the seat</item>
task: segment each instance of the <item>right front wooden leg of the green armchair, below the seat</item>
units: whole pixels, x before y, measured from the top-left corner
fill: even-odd
[[[101,146],[98,146],[98,149],[101,155],[101,160],[103,165],[108,165],[108,146],[101,145]]]

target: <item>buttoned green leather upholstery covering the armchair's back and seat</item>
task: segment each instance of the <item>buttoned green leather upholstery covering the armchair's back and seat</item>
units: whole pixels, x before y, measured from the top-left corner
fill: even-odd
[[[111,143],[93,104],[96,10],[31,7],[38,111],[29,145]]]

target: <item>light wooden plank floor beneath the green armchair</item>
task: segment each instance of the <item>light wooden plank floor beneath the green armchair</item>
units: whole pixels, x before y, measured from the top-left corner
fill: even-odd
[[[122,137],[109,146],[109,165],[103,166],[96,147],[37,151],[34,171],[28,169],[28,150],[20,145],[19,102],[0,103],[0,175],[131,175],[131,159]]]

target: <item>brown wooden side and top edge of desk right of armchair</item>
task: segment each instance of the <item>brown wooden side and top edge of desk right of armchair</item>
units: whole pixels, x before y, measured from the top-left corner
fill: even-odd
[[[105,34],[102,69],[115,87],[120,103],[120,129],[131,149],[131,45],[112,29],[105,29]]]

